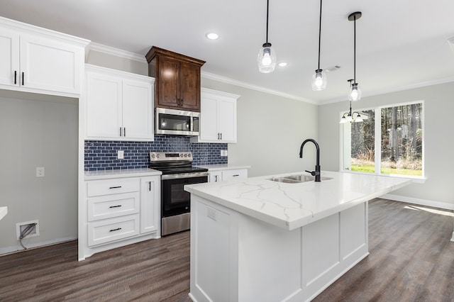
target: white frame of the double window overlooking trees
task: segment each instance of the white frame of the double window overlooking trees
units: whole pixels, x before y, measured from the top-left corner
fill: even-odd
[[[397,106],[409,106],[413,104],[421,104],[421,116],[419,117],[421,119],[421,129],[422,129],[422,159],[421,159],[421,176],[411,176],[411,175],[402,175],[402,174],[383,174],[381,172],[381,164],[382,164],[382,108],[392,108],[392,107],[397,107]],[[426,152],[425,152],[425,138],[426,138],[426,123],[424,120],[425,116],[425,105],[423,100],[418,100],[418,101],[408,101],[408,102],[402,102],[402,103],[396,103],[396,104],[387,104],[387,105],[380,105],[380,106],[370,106],[367,108],[360,108],[360,109],[355,109],[355,111],[368,111],[368,110],[373,110],[374,111],[374,116],[375,116],[375,124],[374,124],[374,148],[375,148],[375,172],[369,173],[369,172],[358,172],[358,171],[352,171],[345,169],[345,164],[344,164],[344,147],[345,147],[345,130],[344,126],[348,123],[340,123],[339,124],[339,131],[340,131],[340,138],[341,138],[341,144],[340,144],[340,158],[339,158],[339,171],[344,172],[344,173],[354,173],[354,174],[374,174],[374,175],[381,175],[384,177],[402,177],[402,178],[409,178],[409,179],[415,179],[415,180],[422,180],[424,181],[426,179],[426,174],[425,174],[425,157],[426,157]],[[341,111],[339,113],[339,121],[341,121],[341,118],[343,116],[343,113],[345,111]],[[351,132],[350,132],[351,133]],[[351,142],[350,142],[351,143]],[[351,146],[350,146],[351,148]],[[378,152],[377,152],[378,151]]]

